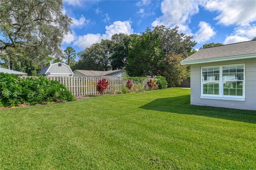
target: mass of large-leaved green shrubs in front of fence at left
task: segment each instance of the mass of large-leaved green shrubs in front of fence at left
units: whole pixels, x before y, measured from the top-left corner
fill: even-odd
[[[0,73],[0,91],[0,107],[74,100],[64,85],[45,77],[22,79],[16,75]]]

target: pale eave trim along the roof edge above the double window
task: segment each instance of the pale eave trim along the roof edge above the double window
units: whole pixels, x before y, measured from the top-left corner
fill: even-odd
[[[256,58],[256,53],[232,55],[232,56],[210,58],[210,59],[198,59],[198,60],[192,60],[192,61],[180,61],[180,64],[190,65],[190,64],[212,63],[212,62],[219,62],[219,61],[230,61],[230,60],[237,60],[237,59],[252,59],[252,58]]]

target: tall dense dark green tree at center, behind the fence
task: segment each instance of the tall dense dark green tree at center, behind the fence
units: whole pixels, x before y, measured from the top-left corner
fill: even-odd
[[[153,77],[158,74],[158,61],[162,56],[159,35],[147,29],[141,36],[134,36],[128,51],[126,71],[133,77]]]

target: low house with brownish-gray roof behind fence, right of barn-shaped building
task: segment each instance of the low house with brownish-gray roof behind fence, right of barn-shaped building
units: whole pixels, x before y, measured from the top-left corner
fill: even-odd
[[[111,71],[92,71],[92,70],[75,70],[75,77],[125,77],[124,70]]]

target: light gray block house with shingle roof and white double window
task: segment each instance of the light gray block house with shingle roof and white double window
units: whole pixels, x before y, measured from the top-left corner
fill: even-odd
[[[203,48],[190,65],[191,105],[256,110],[256,41]]]

